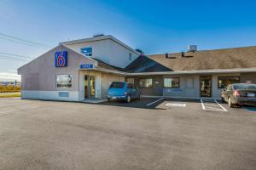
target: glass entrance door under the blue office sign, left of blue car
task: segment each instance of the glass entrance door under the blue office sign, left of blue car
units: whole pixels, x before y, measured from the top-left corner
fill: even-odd
[[[95,98],[95,77],[84,76],[84,98]]]

